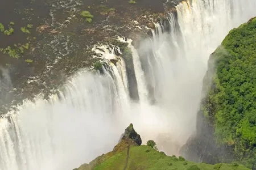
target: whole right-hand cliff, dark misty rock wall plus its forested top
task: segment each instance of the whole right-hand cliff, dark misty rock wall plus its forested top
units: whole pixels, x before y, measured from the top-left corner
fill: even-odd
[[[256,158],[256,18],[233,29],[210,56],[197,133],[183,147],[207,163]]]

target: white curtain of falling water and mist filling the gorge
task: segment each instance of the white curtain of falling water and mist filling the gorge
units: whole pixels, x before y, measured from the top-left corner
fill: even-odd
[[[0,170],[72,169],[112,150],[130,122],[142,142],[154,139],[160,150],[179,154],[195,131],[209,55],[230,29],[256,15],[255,6],[254,0],[184,1],[138,49],[119,38],[129,42],[133,62],[119,57],[118,48],[94,48],[106,61],[102,74],[80,71],[49,100],[26,101],[0,119]],[[169,148],[159,135],[171,139]]]

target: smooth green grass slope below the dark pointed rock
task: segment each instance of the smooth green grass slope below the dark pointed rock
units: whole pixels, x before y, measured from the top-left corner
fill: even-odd
[[[98,164],[93,169],[108,169],[117,170],[123,169],[126,164],[127,148],[118,154],[111,156],[101,164]],[[183,158],[176,158],[175,156],[166,156],[163,152],[156,151],[155,149],[148,146],[134,146],[130,148],[128,169],[220,169],[220,170],[231,170],[231,169],[247,169],[242,165],[237,164],[197,164],[188,162]]]

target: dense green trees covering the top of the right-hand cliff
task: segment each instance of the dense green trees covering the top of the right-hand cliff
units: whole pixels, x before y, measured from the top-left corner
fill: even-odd
[[[233,29],[210,57],[213,86],[202,110],[220,146],[251,167],[256,158],[256,18]]]

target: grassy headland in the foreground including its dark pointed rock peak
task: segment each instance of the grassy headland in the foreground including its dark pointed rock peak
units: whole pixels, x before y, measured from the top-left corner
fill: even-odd
[[[133,124],[126,128],[121,141],[114,147],[113,151],[98,156],[89,164],[83,164],[73,170],[89,169],[222,169],[222,170],[246,170],[243,165],[233,164],[197,164],[188,162],[181,156],[167,156],[159,152],[154,141],[148,141],[147,146],[141,145],[141,137],[133,129]]]

